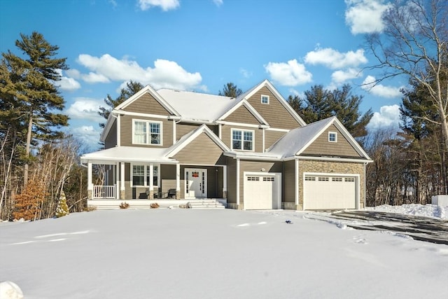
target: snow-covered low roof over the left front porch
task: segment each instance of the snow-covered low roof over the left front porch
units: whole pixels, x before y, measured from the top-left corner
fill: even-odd
[[[165,157],[168,148],[143,148],[133,146],[116,146],[102,151],[81,155],[81,163],[99,162],[157,162],[176,164],[178,161]]]

